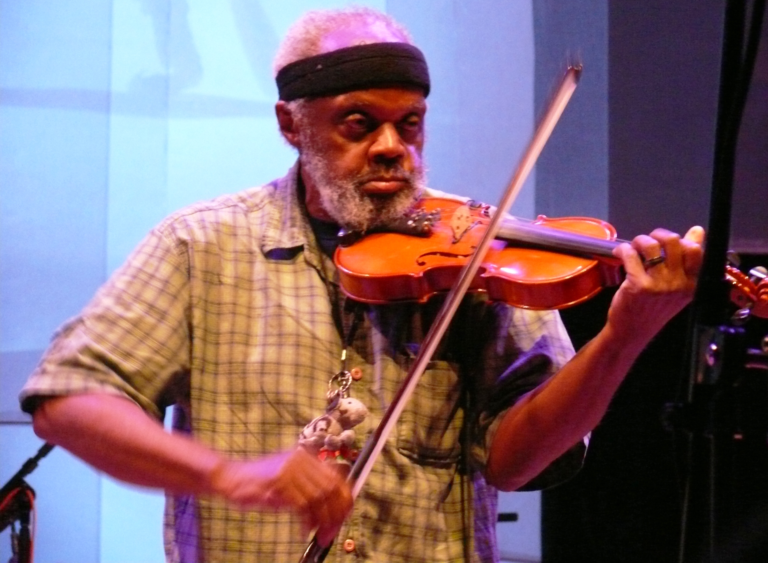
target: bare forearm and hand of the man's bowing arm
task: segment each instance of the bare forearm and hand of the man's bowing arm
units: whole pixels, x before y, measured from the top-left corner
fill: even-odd
[[[122,481],[193,495],[217,495],[243,508],[288,508],[328,544],[352,508],[333,464],[294,448],[256,460],[227,461],[171,434],[127,399],[51,398],[34,415],[35,433]]]

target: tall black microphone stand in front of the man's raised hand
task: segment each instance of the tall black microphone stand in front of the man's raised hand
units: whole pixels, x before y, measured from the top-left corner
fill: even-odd
[[[725,8],[707,242],[691,306],[686,396],[683,405],[673,405],[671,409],[680,415],[677,426],[684,431],[687,448],[679,563],[714,561],[717,531],[723,524],[717,510],[722,494],[717,481],[721,443],[717,438],[724,435],[723,430],[727,431],[723,428],[727,395],[746,360],[744,329],[727,323],[729,296],[723,274],[738,133],[764,11],[765,0],[756,0],[745,46],[745,2],[728,0]]]

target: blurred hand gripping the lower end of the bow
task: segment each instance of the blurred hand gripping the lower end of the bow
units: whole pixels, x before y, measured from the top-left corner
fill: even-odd
[[[257,461],[223,461],[211,479],[218,495],[243,508],[287,508],[302,515],[323,546],[333,541],[352,509],[342,473],[303,448]]]

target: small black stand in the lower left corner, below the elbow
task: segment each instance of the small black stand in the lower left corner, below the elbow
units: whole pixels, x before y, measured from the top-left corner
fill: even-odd
[[[29,521],[32,511],[32,499],[35,489],[31,488],[24,478],[38,466],[38,461],[48,455],[54,448],[53,444],[45,442],[38,453],[24,462],[22,468],[16,471],[12,478],[0,488],[0,531],[8,526],[11,528],[11,563],[30,563],[31,535]],[[19,523],[18,534],[15,522]]]

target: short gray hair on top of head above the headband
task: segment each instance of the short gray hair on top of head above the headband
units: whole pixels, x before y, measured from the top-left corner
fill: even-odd
[[[302,58],[319,55],[320,40],[324,35],[339,28],[379,23],[389,31],[402,35],[406,43],[413,43],[408,30],[391,15],[365,6],[349,6],[337,10],[306,12],[290,26],[280,47],[277,48],[272,68],[274,75],[285,65]]]

